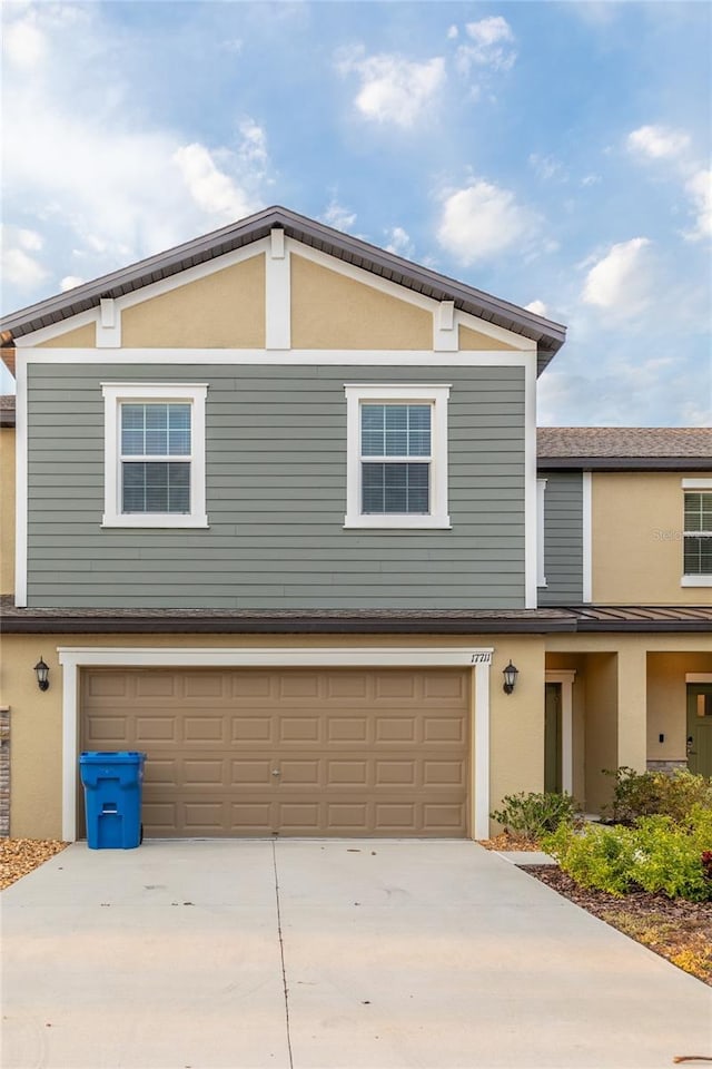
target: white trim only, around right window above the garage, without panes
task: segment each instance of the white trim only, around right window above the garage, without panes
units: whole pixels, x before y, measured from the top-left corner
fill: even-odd
[[[439,528],[451,527],[447,512],[447,400],[449,384],[438,385],[378,385],[347,383],[346,392],[346,517],[344,527],[375,528]],[[427,516],[415,513],[388,513],[384,516],[364,516],[360,511],[360,405],[363,401],[402,404],[408,402],[429,402],[433,405],[433,425],[431,441],[431,512]]]

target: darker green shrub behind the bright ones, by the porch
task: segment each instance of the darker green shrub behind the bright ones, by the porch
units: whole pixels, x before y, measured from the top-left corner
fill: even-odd
[[[604,806],[603,815],[620,824],[633,824],[641,816],[671,816],[683,823],[694,805],[712,808],[712,781],[686,769],[671,776],[664,772],[635,772],[622,765],[615,771],[604,769],[615,777],[613,802]]]

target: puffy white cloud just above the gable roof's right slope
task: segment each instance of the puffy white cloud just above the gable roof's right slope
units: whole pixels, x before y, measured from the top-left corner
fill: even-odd
[[[467,265],[527,241],[537,227],[536,216],[513,193],[475,179],[446,197],[437,239]]]

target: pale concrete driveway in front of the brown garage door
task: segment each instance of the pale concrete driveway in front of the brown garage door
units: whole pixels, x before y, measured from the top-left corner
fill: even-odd
[[[468,842],[77,843],[1,902],[6,1069],[712,1056],[709,988]]]

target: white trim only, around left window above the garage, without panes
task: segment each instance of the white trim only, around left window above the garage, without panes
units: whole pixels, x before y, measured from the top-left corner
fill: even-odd
[[[205,504],[205,383],[102,382],[105,400],[105,506],[102,527],[186,528],[207,527]],[[119,405],[125,401],[174,402],[191,405],[190,512],[122,513],[119,478]]]

